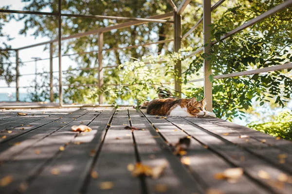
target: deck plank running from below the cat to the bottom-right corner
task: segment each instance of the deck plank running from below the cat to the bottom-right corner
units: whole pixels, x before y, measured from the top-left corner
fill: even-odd
[[[241,147],[219,138],[218,135],[205,130],[203,126],[204,123],[200,122],[200,119],[198,120],[194,117],[184,117],[183,119],[188,121],[194,128],[190,130],[180,126],[181,129],[186,131],[196,140],[200,141],[201,144],[207,145],[208,149],[211,149],[213,152],[217,153],[219,156],[224,158],[224,160],[230,162],[234,166],[243,168],[245,175],[253,179],[256,183],[267,188],[270,192],[283,194],[291,193],[291,183],[279,182],[277,180],[281,174],[287,174],[286,171],[278,169],[277,166],[274,166],[262,158],[242,149]],[[267,172],[270,178],[260,178],[258,174],[261,171]]]

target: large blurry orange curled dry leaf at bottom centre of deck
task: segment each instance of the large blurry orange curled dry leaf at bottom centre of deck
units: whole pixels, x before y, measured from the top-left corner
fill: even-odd
[[[134,164],[128,164],[127,169],[132,173],[133,177],[138,177],[140,175],[145,175],[146,177],[159,178],[163,173],[164,169],[167,167],[167,162],[164,161],[161,165],[156,167],[151,167],[137,162]]]

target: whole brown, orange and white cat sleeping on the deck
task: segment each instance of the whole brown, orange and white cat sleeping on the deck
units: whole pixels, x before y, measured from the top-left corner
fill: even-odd
[[[195,97],[193,97],[192,99],[165,98],[152,100],[147,106],[147,114],[167,116],[216,117],[215,113],[206,111],[205,98],[197,101]]]

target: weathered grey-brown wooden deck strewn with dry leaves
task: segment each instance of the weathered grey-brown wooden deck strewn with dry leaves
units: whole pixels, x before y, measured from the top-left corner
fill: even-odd
[[[0,194],[292,193],[292,142],[218,118],[144,112],[0,111]],[[73,132],[79,124],[92,130]],[[131,132],[125,125],[144,130]],[[173,145],[186,136],[191,139],[186,155],[174,155]],[[165,161],[157,179],[135,178],[127,169],[130,163]],[[218,173],[235,167],[244,170],[237,181],[220,178]]]

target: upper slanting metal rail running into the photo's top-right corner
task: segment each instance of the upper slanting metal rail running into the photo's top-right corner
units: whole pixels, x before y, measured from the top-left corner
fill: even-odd
[[[230,32],[227,32],[226,34],[222,35],[220,37],[219,42],[222,41],[222,40],[224,40],[224,39],[226,39],[226,38],[228,38],[229,36],[231,36],[231,35],[233,35],[233,34],[235,34],[237,32],[240,32],[240,31],[242,31],[242,30],[244,30],[244,29],[246,29],[246,28],[248,28],[248,27],[256,24],[259,21],[264,20],[265,18],[267,18],[269,16],[274,15],[275,13],[277,13],[277,12],[279,12],[279,11],[287,8],[287,7],[290,7],[290,6],[292,6],[292,0],[286,0],[285,2],[283,2],[283,3],[281,3],[281,4],[279,4],[279,5],[275,6],[275,7],[273,7],[269,11],[266,11],[265,13],[257,16],[256,18],[251,19],[250,21],[242,24],[241,26],[238,26],[236,29],[234,29],[234,30],[232,30]],[[214,45],[216,43],[218,43],[218,42],[217,41],[214,41],[211,44]]]

